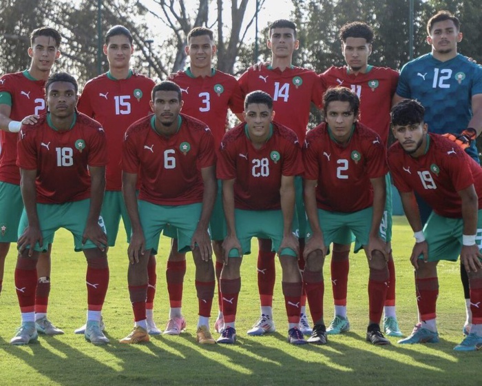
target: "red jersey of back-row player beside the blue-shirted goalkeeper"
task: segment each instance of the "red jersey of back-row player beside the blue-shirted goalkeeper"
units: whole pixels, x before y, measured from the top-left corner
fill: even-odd
[[[366,73],[355,75],[344,65],[332,66],[319,77],[325,90],[343,85],[355,92],[360,99],[360,122],[377,132],[387,145],[392,96],[397,90],[399,73],[391,68],[369,65]]]

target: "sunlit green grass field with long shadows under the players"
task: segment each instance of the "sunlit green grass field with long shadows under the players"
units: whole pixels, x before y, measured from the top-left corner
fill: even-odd
[[[413,270],[408,261],[414,239],[402,217],[395,217],[393,234],[397,314],[402,332],[409,334],[416,321]],[[20,312],[14,292],[16,254],[12,248],[0,296],[0,385],[481,385],[481,353],[452,350],[463,338],[461,327],[465,321],[458,263],[439,265],[441,343],[437,345],[401,346],[397,345],[397,338],[390,338],[392,345],[388,347],[366,343],[368,268],[364,254],[350,256],[350,332],[329,337],[328,345],[322,347],[288,345],[281,284],[277,283],[277,332],[271,336],[247,336],[247,329],[259,315],[257,247],[253,245],[253,255],[246,256],[242,266],[238,344],[200,347],[196,343],[197,299],[193,263],[188,260],[183,307],[187,332],[126,347],[118,344],[118,339],[132,329],[126,250],[123,240],[118,240],[118,245],[109,251],[110,284],[103,310],[109,345],[96,347],[85,342],[83,336],[73,334],[85,321],[85,261],[82,254],[73,252],[70,234],[58,232],[52,252],[49,318],[64,329],[65,335],[40,336],[39,343],[13,347],[9,341],[19,325]],[[158,327],[165,325],[169,311],[165,283],[167,251],[167,241],[162,239],[154,306]],[[280,273],[279,265],[277,272]],[[325,321],[329,323],[333,315],[329,260],[324,276]],[[213,309],[213,316],[216,312]],[[211,321],[212,326],[214,318]]]

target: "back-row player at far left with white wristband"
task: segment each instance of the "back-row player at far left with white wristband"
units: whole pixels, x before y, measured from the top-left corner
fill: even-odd
[[[45,81],[60,57],[61,34],[54,28],[37,28],[30,35],[30,68],[6,74],[0,79],[0,292],[5,259],[10,243],[17,241],[23,201],[17,161],[17,137],[22,124],[36,123],[45,112]],[[47,318],[50,294],[50,246],[37,263],[35,321],[41,334],[57,335],[63,331]]]

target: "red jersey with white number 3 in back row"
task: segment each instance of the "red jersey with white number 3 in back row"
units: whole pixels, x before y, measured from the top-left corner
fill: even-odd
[[[182,112],[206,123],[219,148],[227,128],[228,108],[235,114],[244,110],[238,81],[218,70],[212,70],[210,77],[196,78],[189,68],[175,74],[173,81],[182,91]]]

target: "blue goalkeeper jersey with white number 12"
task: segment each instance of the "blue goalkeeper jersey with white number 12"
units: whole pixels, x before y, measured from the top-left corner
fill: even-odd
[[[397,94],[426,108],[429,132],[459,133],[472,119],[472,96],[482,94],[482,67],[461,54],[444,62],[426,54],[401,69]],[[475,143],[467,152],[479,161]]]

